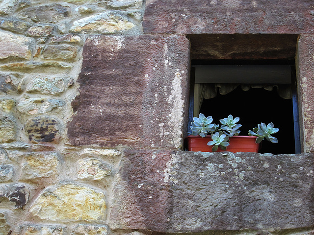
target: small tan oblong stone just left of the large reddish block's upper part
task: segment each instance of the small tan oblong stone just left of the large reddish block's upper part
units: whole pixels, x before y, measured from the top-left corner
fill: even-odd
[[[71,45],[49,45],[42,52],[46,60],[70,60],[73,61],[78,54],[78,48]]]

